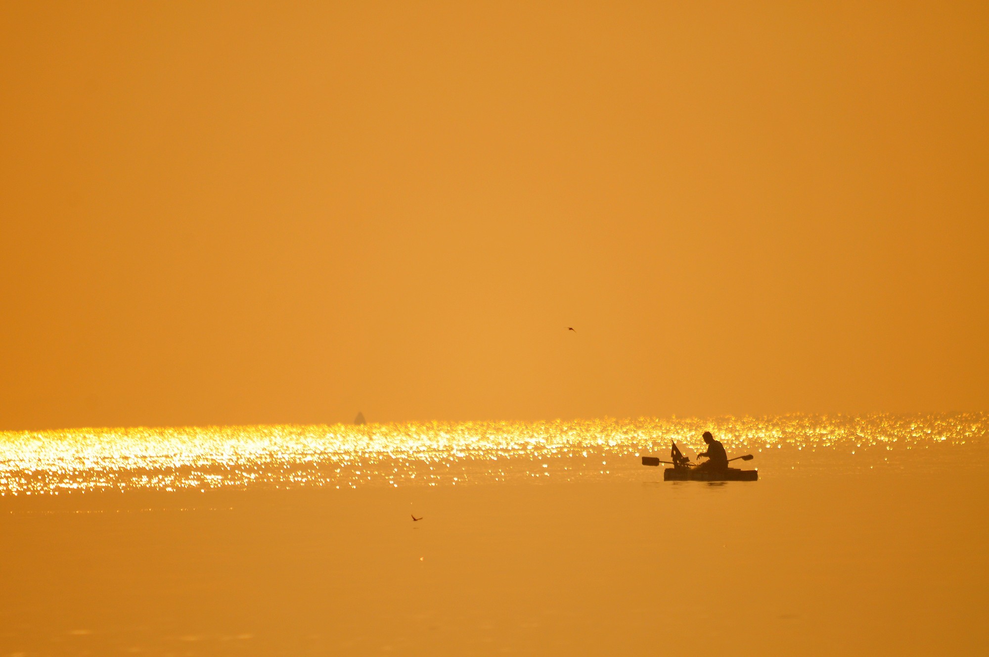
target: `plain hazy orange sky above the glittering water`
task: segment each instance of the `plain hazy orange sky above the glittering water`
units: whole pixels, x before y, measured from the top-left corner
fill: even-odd
[[[989,408],[985,3],[95,4],[0,6],[0,428]]]

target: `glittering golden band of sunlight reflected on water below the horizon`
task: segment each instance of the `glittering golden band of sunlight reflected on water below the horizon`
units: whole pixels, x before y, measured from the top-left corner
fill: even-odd
[[[573,480],[639,468],[640,453],[665,454],[671,440],[689,451],[705,429],[770,461],[785,447],[794,463],[820,450],[881,464],[918,447],[982,445],[987,427],[986,414],[966,414],[7,431],[0,495]]]

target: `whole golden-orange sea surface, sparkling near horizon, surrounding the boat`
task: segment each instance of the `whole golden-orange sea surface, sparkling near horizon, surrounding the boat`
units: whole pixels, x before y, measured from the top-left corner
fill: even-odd
[[[987,654],[987,428],[0,433],[0,655]],[[760,480],[640,464],[703,430]]]

